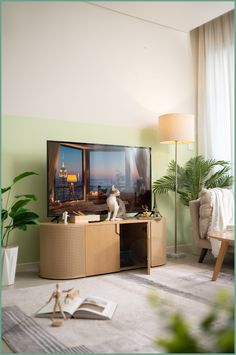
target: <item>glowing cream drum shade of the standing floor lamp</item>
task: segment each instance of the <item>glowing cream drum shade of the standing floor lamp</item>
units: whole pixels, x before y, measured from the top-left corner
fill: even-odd
[[[194,115],[169,113],[159,116],[159,138],[164,144],[194,142]]]

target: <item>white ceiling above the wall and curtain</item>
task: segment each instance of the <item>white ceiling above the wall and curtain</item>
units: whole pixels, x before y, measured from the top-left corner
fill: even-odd
[[[188,32],[234,9],[234,1],[96,1],[128,16]]]

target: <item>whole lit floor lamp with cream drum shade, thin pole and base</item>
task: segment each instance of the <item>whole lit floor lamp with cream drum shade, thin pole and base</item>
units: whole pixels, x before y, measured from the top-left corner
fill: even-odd
[[[170,113],[159,117],[159,139],[163,144],[175,145],[175,218],[174,218],[174,253],[168,254],[169,257],[180,258],[184,253],[177,251],[177,145],[189,144],[194,142],[194,116],[184,113]]]

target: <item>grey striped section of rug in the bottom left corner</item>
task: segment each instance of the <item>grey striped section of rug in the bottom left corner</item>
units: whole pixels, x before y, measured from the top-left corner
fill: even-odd
[[[83,345],[69,348],[17,306],[2,309],[2,338],[15,353],[89,354]]]

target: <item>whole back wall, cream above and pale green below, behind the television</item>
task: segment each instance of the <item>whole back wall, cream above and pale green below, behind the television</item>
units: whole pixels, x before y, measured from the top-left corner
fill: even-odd
[[[15,194],[35,193],[46,218],[46,140],[152,147],[152,179],[165,174],[173,146],[158,144],[157,116],[195,113],[186,33],[86,3],[2,4],[2,183],[39,173]],[[70,122],[69,122],[70,121]],[[193,151],[179,147],[179,163]],[[173,200],[158,199],[173,244]],[[191,240],[186,207],[179,243]],[[19,234],[20,233],[20,237]],[[39,231],[15,231],[19,262],[39,260]]]

